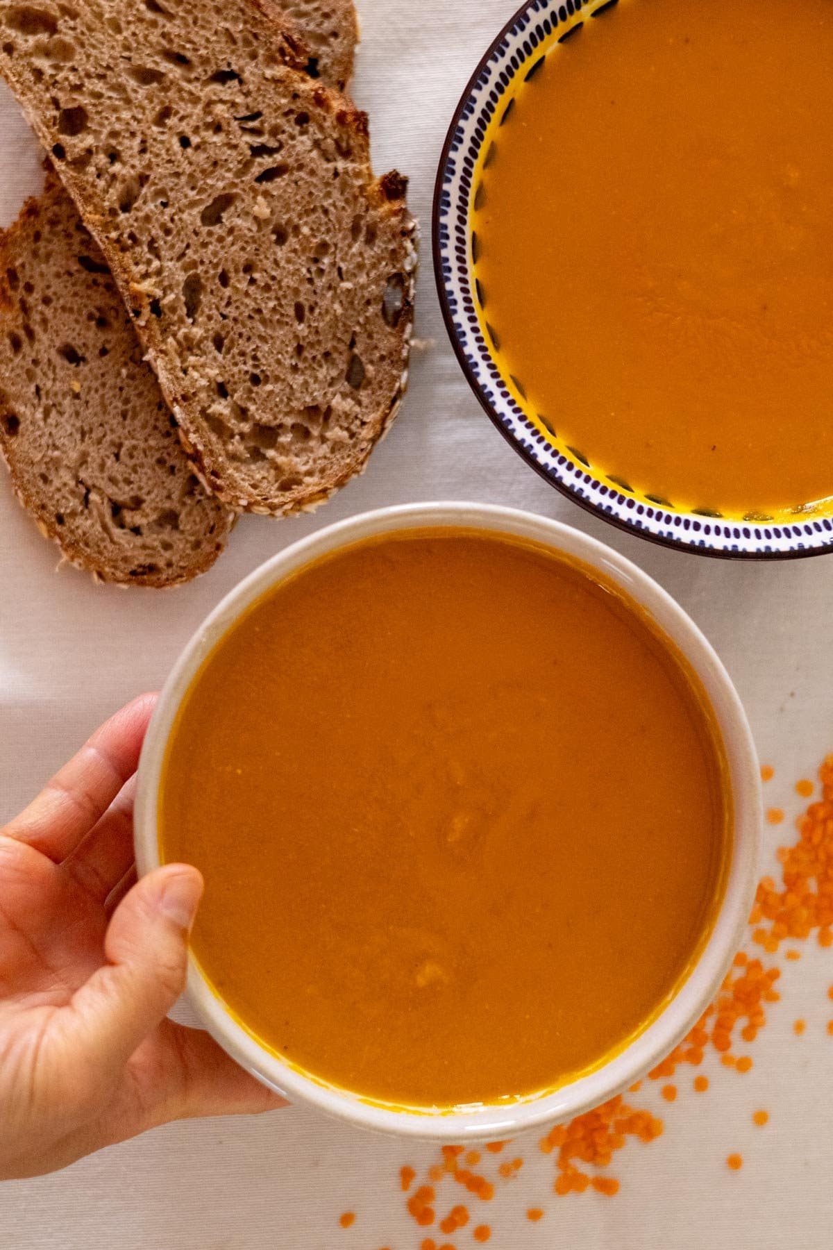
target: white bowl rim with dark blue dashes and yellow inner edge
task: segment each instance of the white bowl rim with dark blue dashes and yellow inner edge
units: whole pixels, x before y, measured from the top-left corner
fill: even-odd
[[[488,330],[483,332],[470,220],[492,122],[508,116],[515,89],[553,48],[579,36],[586,21],[608,14],[617,2],[531,0],[500,32],[462,94],[440,159],[432,219],[435,276],[452,346],[472,390],[515,450],[564,495],[612,525],[677,550],[728,559],[778,560],[831,551],[828,516],[733,520],[677,509],[639,495],[621,479],[594,476],[581,455],[530,420],[495,360]]]

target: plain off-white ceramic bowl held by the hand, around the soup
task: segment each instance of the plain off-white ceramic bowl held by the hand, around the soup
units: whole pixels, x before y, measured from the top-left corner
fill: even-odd
[[[761,838],[761,786],[754,745],[737,692],[719,659],[697,626],[669,595],[623,556],[558,521],[481,504],[415,504],[386,508],[341,521],[267,560],[211,612],[182,651],[154,714],[139,766],[136,864],[140,872],[159,866],[157,791],[165,750],[177,709],[206,655],[250,604],[287,574],[335,548],[391,530],[468,526],[532,539],[582,560],[636,600],[677,645],[711,700],[729,766],[734,830],[726,894],[699,959],[661,1015],[623,1051],[571,1084],[543,1096],[465,1111],[407,1111],[380,1106],[285,1064],[229,1012],[194,961],[187,996],[206,1029],[234,1059],[264,1084],[292,1100],[310,1102],[367,1129],[435,1140],[506,1138],[535,1125],[568,1120],[626,1089],[653,1068],[684,1036],[711,1002],[741,942],[752,905]]]

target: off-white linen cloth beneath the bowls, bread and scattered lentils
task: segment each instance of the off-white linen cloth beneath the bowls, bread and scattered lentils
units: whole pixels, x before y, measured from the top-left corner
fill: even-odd
[[[451,112],[513,0],[360,0],[360,9],[355,94],[371,115],[376,168],[396,165],[410,175],[423,231],[422,342],[400,419],[366,475],[315,516],[244,518],[219,564],[174,591],[122,591],[67,566],[56,570],[56,549],[0,479],[0,819],[109,712],[159,686],[202,616],[264,559],[341,518],[426,499],[486,500],[559,518],[657,578],[726,661],[761,758],[777,768],[766,800],[792,818],[799,809],[793,782],[814,775],[833,750],[833,558],[741,565],[653,548],[588,518],[503,442],[446,340],[430,212]],[[1,222],[39,180],[36,145],[4,91]],[[538,625],[530,641],[556,648],[546,621]],[[792,836],[789,822],[769,829],[771,851]],[[520,1179],[491,1204],[472,1199],[468,1229],[447,1239],[425,1232],[458,1250],[475,1246],[471,1229],[480,1220],[491,1224],[496,1250],[781,1250],[786,1242],[831,1250],[833,1038],[826,1022],[833,951],[801,946],[801,961],[784,968],[783,1001],[749,1048],[752,1072],[739,1076],[712,1056],[678,1074],[673,1106],[647,1082],[638,1102],[664,1115],[666,1132],[649,1146],[628,1142],[614,1158],[618,1196],[557,1199],[552,1159],[526,1141]],[[792,1029],[798,1016],[807,1019],[803,1038]],[[704,1095],[692,1091],[694,1071],[711,1079]],[[752,1124],[758,1108],[771,1112],[764,1129]],[[737,1174],[724,1162],[736,1150],[744,1158]],[[0,1186],[0,1250],[417,1250],[425,1232],[405,1212],[397,1171],[406,1162],[425,1168],[435,1156],[430,1146],[366,1135],[302,1109],[170,1125],[59,1175]],[[446,1186],[443,1208],[467,1198]],[[546,1210],[537,1225],[525,1215],[532,1205]],[[338,1226],[345,1210],[357,1214],[350,1230]]]

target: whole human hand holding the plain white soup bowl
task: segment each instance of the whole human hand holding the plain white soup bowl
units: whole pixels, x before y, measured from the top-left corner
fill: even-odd
[[[0,829],[0,1179],[167,1120],[283,1105],[166,1019],[202,878],[170,864],[127,889],[130,779],[155,701],[116,712]]]

